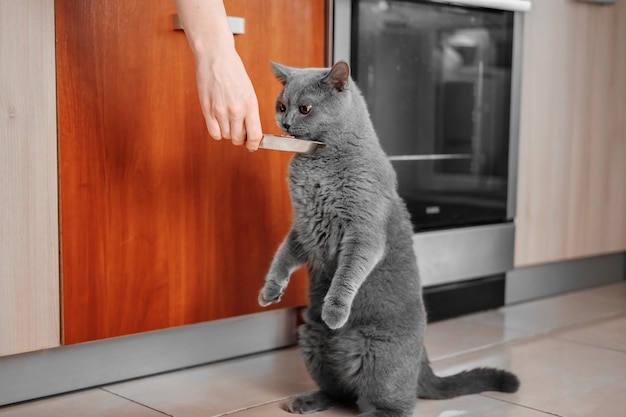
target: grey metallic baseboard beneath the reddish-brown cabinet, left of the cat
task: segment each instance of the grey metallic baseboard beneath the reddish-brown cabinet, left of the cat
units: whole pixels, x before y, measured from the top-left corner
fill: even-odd
[[[296,310],[0,358],[0,406],[296,343]]]

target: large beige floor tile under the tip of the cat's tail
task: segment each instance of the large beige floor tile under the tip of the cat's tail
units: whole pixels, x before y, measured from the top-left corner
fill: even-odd
[[[521,381],[515,394],[492,398],[568,417],[623,415],[626,410],[626,353],[540,337],[437,361],[449,375],[476,366],[513,371]]]

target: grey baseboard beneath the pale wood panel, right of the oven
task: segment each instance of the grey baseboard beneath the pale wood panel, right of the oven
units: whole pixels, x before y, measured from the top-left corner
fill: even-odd
[[[626,279],[626,253],[516,268],[506,274],[513,304]]]

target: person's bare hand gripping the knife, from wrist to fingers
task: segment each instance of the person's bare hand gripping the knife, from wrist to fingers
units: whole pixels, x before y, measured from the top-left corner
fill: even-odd
[[[227,50],[212,60],[198,59],[196,79],[209,135],[257,150],[263,138],[259,104],[237,52]]]

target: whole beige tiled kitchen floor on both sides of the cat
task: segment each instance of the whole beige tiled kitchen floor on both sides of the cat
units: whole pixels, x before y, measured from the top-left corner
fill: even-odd
[[[419,401],[416,417],[626,416],[626,282],[435,323],[426,344],[440,374],[497,366],[522,386]],[[0,408],[0,417],[287,417],[287,399],[314,389],[291,348]]]

